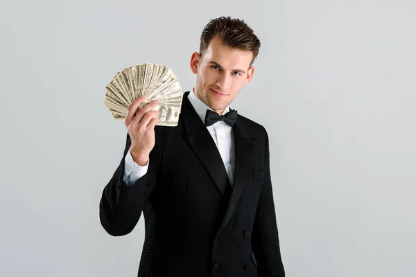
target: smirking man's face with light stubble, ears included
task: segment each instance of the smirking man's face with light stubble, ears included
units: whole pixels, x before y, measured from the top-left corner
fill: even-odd
[[[252,52],[229,48],[215,37],[202,55],[191,57],[191,69],[196,76],[195,93],[202,102],[218,114],[231,104],[241,87],[250,82],[254,73]]]

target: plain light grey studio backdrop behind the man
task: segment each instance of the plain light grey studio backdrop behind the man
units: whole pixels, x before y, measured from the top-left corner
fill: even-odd
[[[288,277],[416,276],[415,1],[2,1],[0,276],[137,276],[144,220],[115,238],[98,204],[125,147],[105,86],[171,66],[202,28],[254,29],[232,104],[270,136]]]

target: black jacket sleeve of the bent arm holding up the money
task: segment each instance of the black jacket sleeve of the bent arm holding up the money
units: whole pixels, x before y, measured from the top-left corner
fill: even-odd
[[[144,205],[156,184],[156,167],[159,161],[157,137],[155,141],[146,174],[133,184],[128,184],[124,181],[125,157],[131,145],[130,136],[127,134],[123,158],[103,189],[99,204],[101,225],[110,235],[127,235],[139,222]]]

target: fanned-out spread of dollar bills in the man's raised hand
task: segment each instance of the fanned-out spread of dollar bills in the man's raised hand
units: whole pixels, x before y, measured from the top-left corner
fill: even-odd
[[[117,120],[124,120],[128,107],[139,96],[146,94],[145,102],[159,100],[154,111],[159,111],[162,126],[177,126],[182,105],[180,82],[169,66],[144,63],[129,66],[117,73],[105,87],[105,106]]]

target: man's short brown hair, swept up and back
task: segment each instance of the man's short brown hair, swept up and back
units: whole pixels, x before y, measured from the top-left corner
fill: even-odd
[[[257,35],[254,35],[252,28],[245,24],[242,19],[232,19],[231,17],[211,19],[202,30],[200,38],[201,55],[214,37],[218,37],[225,46],[230,48],[251,51],[253,53],[251,64],[259,55],[260,40]]]

